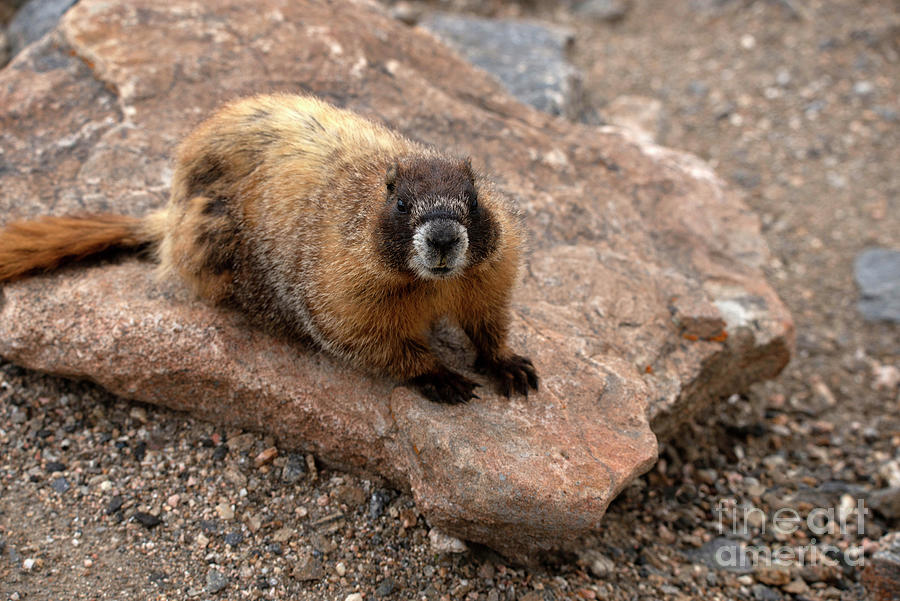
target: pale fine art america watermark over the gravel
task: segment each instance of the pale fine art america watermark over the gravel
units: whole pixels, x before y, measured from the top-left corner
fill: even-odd
[[[771,533],[774,544],[721,544],[714,561],[724,569],[750,571],[766,567],[862,566],[863,549],[853,541],[865,534],[869,510],[862,499],[842,499],[836,507],[816,507],[805,517],[792,507],[766,513],[735,499],[720,499],[714,509],[720,535],[751,540],[756,533]],[[721,539],[720,539],[721,540]],[[724,541],[723,541],[724,542]],[[796,544],[792,544],[796,543]]]

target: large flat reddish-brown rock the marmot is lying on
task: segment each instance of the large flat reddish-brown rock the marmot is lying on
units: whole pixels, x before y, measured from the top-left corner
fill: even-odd
[[[157,283],[138,260],[6,285],[0,354],[274,434],[411,490],[432,527],[517,559],[597,528],[657,434],[786,363],[756,219],[700,160],[516,102],[374,5],[83,0],[0,72],[0,219],[165,200],[177,140],[227,98],[311,91],[469,153],[532,251],[512,343],[527,401],[435,406]]]

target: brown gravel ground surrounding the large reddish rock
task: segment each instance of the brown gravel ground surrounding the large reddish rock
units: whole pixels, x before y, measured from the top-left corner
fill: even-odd
[[[663,445],[582,553],[527,569],[436,553],[409,496],[272,440],[0,363],[0,599],[864,599],[860,564],[900,527],[900,327],[861,320],[852,277],[858,252],[898,246],[898,5],[643,0],[615,23],[416,6],[573,27],[601,118],[661,101],[661,142],[761,216],[794,361]],[[779,509],[847,520],[791,531]],[[735,541],[795,561],[722,569]]]

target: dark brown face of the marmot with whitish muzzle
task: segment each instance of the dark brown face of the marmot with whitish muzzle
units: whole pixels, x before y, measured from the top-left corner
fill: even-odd
[[[479,202],[468,160],[401,160],[388,170],[385,194],[378,235],[394,269],[445,279],[494,250],[496,223]]]

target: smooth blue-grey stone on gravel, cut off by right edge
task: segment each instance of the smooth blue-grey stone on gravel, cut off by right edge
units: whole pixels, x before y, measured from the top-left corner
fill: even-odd
[[[900,250],[865,250],[856,257],[853,270],[863,317],[900,323]]]

